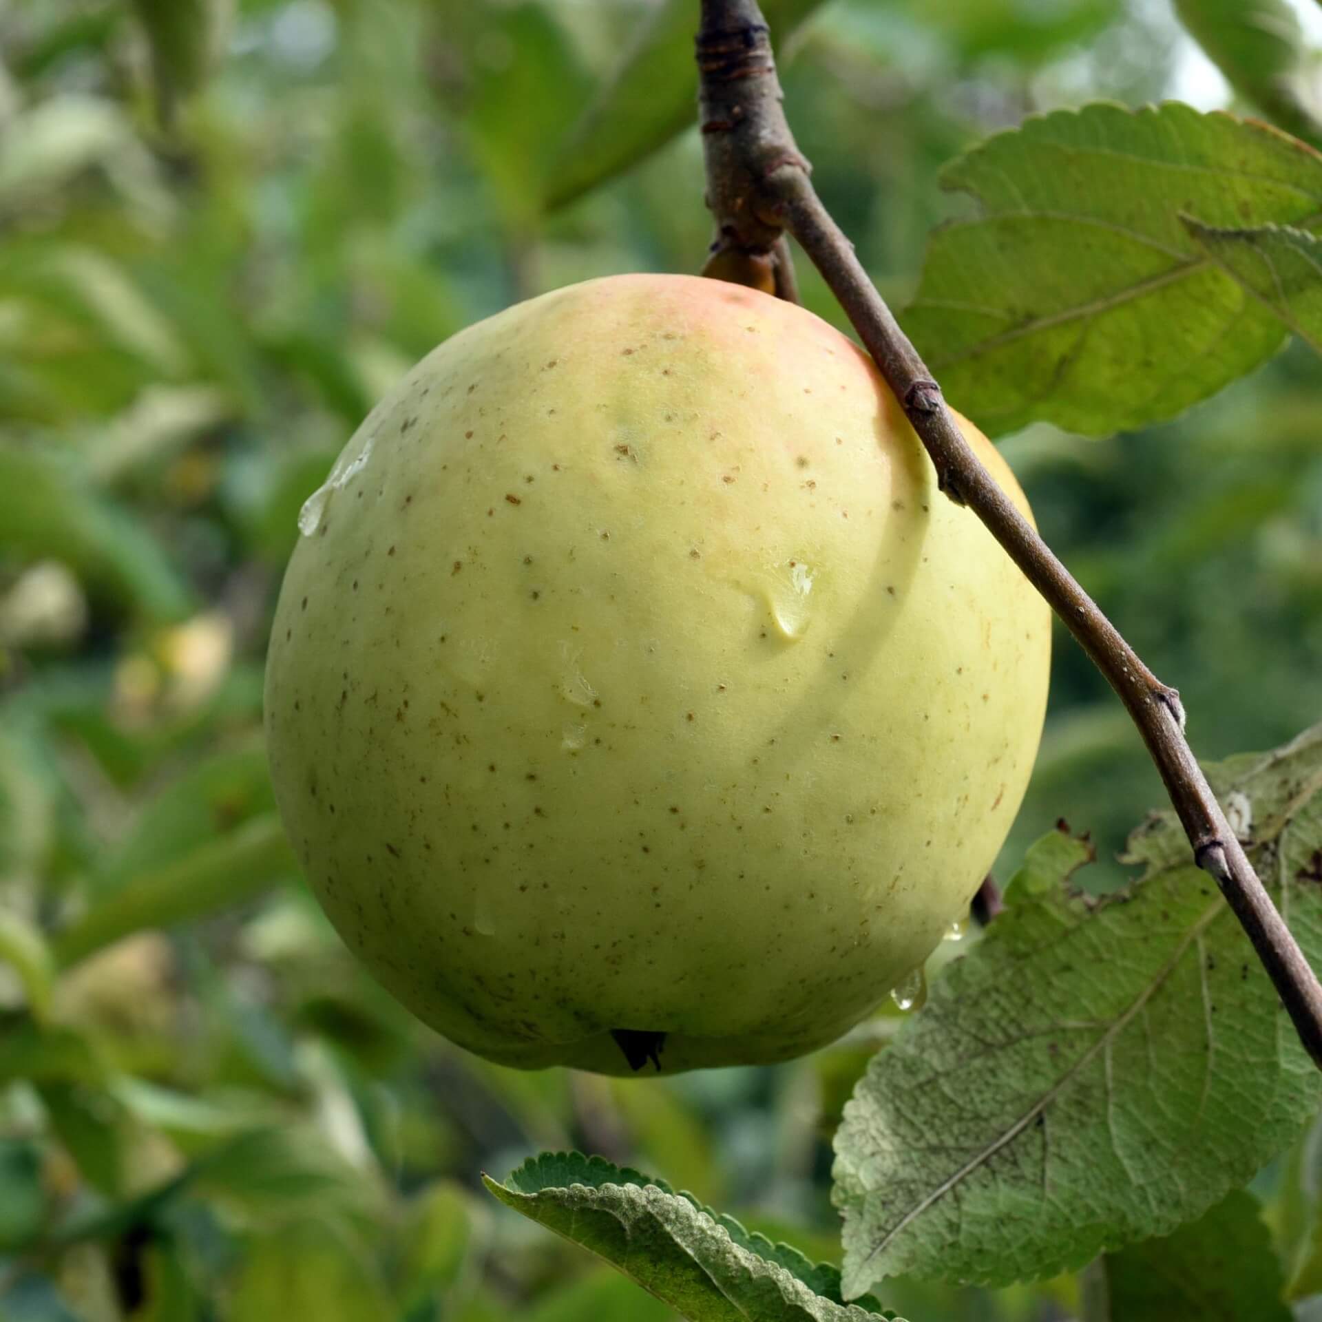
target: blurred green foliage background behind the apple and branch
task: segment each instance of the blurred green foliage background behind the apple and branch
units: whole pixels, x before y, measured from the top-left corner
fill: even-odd
[[[898,1011],[768,1069],[488,1066],[352,964],[266,777],[295,517],[373,401],[510,301],[702,262],[691,130],[543,205],[649,5],[185,9],[212,26],[172,54],[164,0],[0,8],[0,1318],[669,1317],[481,1194],[480,1171],[542,1147],[637,1165],[836,1259],[830,1134]],[[821,193],[900,303],[958,208],[939,167],[978,137],[1097,98],[1229,98],[1165,0],[832,0],[783,59]],[[1048,541],[1182,689],[1203,756],[1322,715],[1305,350],[1150,432],[1034,427],[1003,451]],[[1112,886],[1159,801],[1062,636],[1002,879],[1063,816]],[[883,1302],[1046,1322],[1075,1293],[900,1281]]]

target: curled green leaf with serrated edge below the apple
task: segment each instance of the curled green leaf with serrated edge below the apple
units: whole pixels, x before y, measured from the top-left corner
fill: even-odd
[[[693,1322],[863,1322],[880,1313],[871,1300],[842,1303],[833,1266],[600,1157],[542,1153],[504,1185],[483,1182],[506,1207],[591,1249]]]

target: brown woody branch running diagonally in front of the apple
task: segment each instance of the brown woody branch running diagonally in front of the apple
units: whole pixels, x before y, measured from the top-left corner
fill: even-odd
[[[1322,985],[1309,968],[1185,738],[1179,694],[1142,662],[982,467],[941,389],[830,218],[808,175],[781,107],[767,25],[756,0],[702,0],[697,40],[699,123],[714,250],[772,253],[792,234],[876,361],[936,468],[940,489],[982,520],[1107,677],[1147,746],[1170,801],[1204,869],[1225,896],[1322,1067]]]

